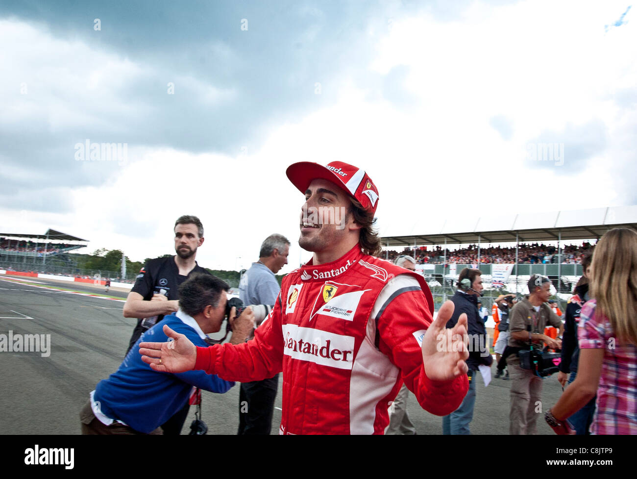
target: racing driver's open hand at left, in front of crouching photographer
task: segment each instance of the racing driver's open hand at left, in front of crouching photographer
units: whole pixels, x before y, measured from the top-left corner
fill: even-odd
[[[141,361],[162,373],[183,373],[194,368],[197,348],[185,336],[164,324],[164,334],[174,341],[167,343],[140,343]]]

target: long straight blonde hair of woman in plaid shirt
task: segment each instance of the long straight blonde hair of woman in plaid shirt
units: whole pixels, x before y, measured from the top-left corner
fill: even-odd
[[[590,295],[617,340],[637,345],[637,232],[614,228],[599,239],[591,265]]]

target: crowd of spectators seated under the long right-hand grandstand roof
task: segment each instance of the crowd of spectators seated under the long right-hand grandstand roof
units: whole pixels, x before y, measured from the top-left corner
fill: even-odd
[[[582,255],[592,251],[594,245],[583,243],[582,246],[568,245],[562,248],[562,264],[580,264]],[[387,256],[387,254],[389,255]],[[443,264],[445,251],[443,247],[419,247],[414,252],[413,248],[405,248],[403,252],[382,252],[381,257],[394,261],[399,255],[413,256],[419,264]],[[551,264],[559,261],[557,247],[538,243],[520,243],[518,248],[518,262],[526,264]],[[477,264],[478,245],[469,245],[457,250],[447,249],[447,263]],[[490,263],[514,263],[515,247],[483,247],[480,246],[480,264]]]

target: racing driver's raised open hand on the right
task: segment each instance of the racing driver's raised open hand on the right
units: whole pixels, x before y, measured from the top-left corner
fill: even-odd
[[[469,357],[467,315],[462,313],[457,324],[447,329],[445,325],[453,313],[454,303],[445,301],[422,340],[422,361],[429,379],[450,381],[469,369],[464,362]]]

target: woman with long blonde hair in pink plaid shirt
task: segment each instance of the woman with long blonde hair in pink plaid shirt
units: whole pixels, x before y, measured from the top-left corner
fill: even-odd
[[[569,434],[566,418],[597,392],[590,433],[637,434],[637,232],[608,231],[596,245],[591,275],[594,299],[578,325],[577,376],[545,418],[557,434]]]

